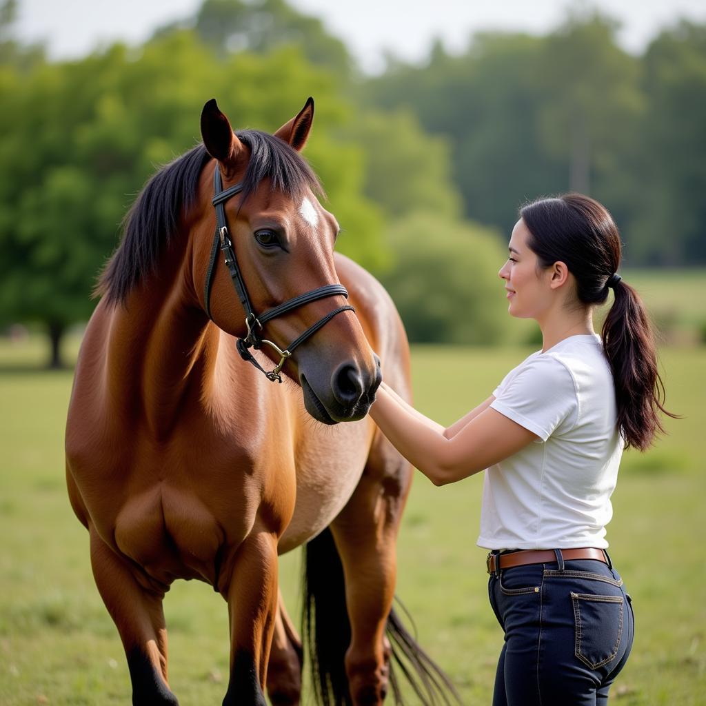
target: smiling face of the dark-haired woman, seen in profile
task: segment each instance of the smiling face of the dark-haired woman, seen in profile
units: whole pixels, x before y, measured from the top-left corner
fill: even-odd
[[[527,246],[529,237],[530,231],[520,218],[510,236],[510,254],[498,275],[505,280],[510,316],[541,319],[553,301],[551,268],[538,269],[537,256]]]

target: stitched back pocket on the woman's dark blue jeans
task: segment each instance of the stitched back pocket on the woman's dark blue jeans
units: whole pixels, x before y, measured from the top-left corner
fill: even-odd
[[[623,635],[623,597],[571,592],[575,654],[590,669],[615,659]]]

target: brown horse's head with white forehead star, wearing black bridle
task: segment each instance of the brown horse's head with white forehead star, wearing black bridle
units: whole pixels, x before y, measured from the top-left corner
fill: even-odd
[[[205,104],[201,134],[215,162],[204,172],[222,193],[216,204],[222,211],[215,239],[213,208],[201,214],[194,260],[206,273],[204,309],[238,337],[241,355],[247,359],[251,347],[261,347],[277,363],[268,377],[280,378],[281,366],[301,385],[309,414],[335,424],[367,414],[381,373],[336,274],[338,223],[299,155],[312,121],[309,98],[274,135],[234,133],[215,100]]]

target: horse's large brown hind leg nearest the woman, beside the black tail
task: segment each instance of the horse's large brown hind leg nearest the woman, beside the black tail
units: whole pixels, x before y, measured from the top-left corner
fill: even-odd
[[[395,593],[395,540],[411,473],[378,433],[357,489],[331,525],[345,575],[351,626],[345,667],[355,706],[380,705],[388,690],[385,627]]]

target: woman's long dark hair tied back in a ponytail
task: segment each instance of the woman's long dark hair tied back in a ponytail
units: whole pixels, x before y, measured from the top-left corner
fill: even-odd
[[[520,209],[530,231],[527,242],[539,264],[566,263],[576,280],[581,304],[604,304],[614,289],[614,302],[601,336],[613,372],[618,429],[626,448],[641,451],[664,433],[664,384],[657,370],[652,325],[638,293],[618,277],[621,262],[618,228],[600,203],[578,193],[543,198]]]

